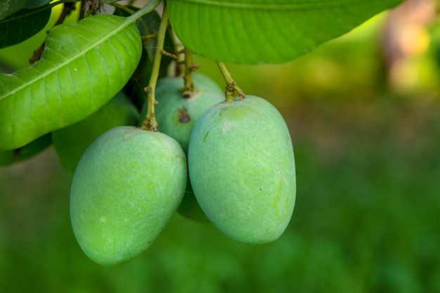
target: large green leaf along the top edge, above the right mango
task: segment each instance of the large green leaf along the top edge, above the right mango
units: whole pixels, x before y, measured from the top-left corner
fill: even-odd
[[[231,63],[282,63],[403,0],[168,0],[169,22],[194,53]]]

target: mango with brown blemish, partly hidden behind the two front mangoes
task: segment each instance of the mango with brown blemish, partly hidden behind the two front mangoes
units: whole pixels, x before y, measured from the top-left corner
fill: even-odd
[[[195,122],[207,109],[225,100],[224,90],[206,75],[193,73],[193,84],[195,91],[190,93],[190,98],[183,97],[182,77],[159,79],[155,91],[155,98],[159,102],[155,107],[159,129],[178,141],[185,152],[188,152]],[[146,112],[147,103],[143,105],[141,119],[145,118]],[[209,221],[195,200],[190,181],[178,212],[194,221]]]

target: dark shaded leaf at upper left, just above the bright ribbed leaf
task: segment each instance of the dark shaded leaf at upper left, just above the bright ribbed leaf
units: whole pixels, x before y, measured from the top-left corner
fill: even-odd
[[[0,20],[0,48],[12,46],[37,34],[51,18],[52,6],[22,9]]]

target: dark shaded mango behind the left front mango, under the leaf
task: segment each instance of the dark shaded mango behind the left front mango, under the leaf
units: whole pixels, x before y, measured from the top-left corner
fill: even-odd
[[[98,136],[116,126],[134,126],[138,117],[129,98],[119,92],[86,119],[53,131],[53,145],[64,169],[73,174],[82,154]]]

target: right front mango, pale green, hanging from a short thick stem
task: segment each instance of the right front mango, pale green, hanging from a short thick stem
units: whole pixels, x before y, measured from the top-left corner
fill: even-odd
[[[233,240],[272,242],[295,206],[295,157],[278,110],[247,96],[209,108],[188,150],[190,182],[200,207]]]

